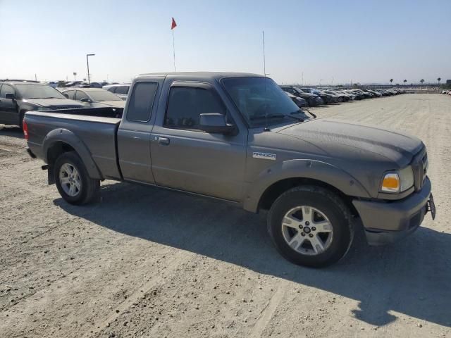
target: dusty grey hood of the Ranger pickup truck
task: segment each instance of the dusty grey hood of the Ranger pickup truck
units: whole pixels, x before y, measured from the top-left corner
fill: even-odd
[[[354,161],[383,157],[400,168],[424,147],[420,139],[407,134],[339,120],[311,120],[273,131],[314,144],[333,157]]]

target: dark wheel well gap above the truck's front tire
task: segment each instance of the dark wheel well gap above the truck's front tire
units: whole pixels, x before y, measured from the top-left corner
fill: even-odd
[[[359,213],[357,213],[357,209],[352,204],[352,199],[350,196],[347,196],[347,194],[345,194],[341,190],[333,187],[333,185],[330,185],[326,182],[303,177],[293,177],[287,178],[285,180],[280,180],[276,183],[273,183],[268,188],[266,188],[265,192],[261,195],[259,201],[259,210],[260,209],[269,210],[273,205],[274,201],[278,199],[278,196],[280,196],[289,189],[299,187],[302,185],[314,185],[316,187],[323,187],[325,189],[330,190],[331,192],[337,194],[342,199],[342,201],[350,209],[352,215],[354,216],[359,215]]]

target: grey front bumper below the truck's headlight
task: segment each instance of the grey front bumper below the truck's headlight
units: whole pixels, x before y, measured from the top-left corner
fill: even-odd
[[[390,244],[414,232],[426,214],[431,189],[431,181],[426,177],[419,192],[401,201],[352,201],[362,219],[368,243]]]

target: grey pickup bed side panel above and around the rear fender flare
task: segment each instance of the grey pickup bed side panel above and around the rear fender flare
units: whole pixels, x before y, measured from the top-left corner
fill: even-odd
[[[116,136],[121,118],[109,117],[113,113],[116,112],[111,108],[27,112],[25,121],[30,150],[39,158],[47,158],[42,154],[47,134],[57,129],[69,130],[87,147],[104,178],[121,179],[116,156]]]

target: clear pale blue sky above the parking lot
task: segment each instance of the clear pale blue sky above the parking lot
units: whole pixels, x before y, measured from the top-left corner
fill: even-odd
[[[451,1],[0,0],[0,78],[130,81],[173,70],[279,83],[451,79]]]

